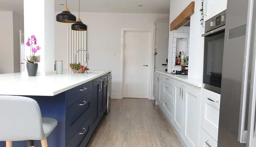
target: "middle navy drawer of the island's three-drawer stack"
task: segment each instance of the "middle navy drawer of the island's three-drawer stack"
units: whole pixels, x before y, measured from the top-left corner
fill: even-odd
[[[78,128],[91,115],[91,99],[92,92],[66,109],[66,142],[72,138]]]

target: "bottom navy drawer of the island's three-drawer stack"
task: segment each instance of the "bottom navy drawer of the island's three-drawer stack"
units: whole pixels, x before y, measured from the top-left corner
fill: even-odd
[[[91,116],[82,124],[82,126],[76,131],[72,139],[66,144],[66,147],[84,147],[92,136],[91,130]]]

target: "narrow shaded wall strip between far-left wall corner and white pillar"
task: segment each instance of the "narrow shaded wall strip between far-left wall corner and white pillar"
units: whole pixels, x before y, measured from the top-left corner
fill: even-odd
[[[20,31],[24,30],[24,16],[13,12],[13,67],[20,72]]]

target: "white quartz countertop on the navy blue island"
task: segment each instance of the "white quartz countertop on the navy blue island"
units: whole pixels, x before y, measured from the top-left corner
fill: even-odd
[[[26,72],[0,74],[0,95],[54,96],[111,71],[90,70],[88,74],[66,71],[64,74],[36,77],[29,77]]]

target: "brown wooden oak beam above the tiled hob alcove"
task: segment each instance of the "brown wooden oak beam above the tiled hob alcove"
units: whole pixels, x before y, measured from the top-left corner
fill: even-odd
[[[186,22],[188,22],[190,20],[190,16],[192,14],[194,14],[194,10],[195,10],[195,2],[192,1],[188,7],[186,7],[178,17],[176,17],[171,23],[170,23],[170,31],[172,30],[177,30],[178,28],[180,28],[181,26],[183,26],[184,24],[186,24]]]

